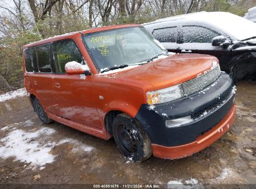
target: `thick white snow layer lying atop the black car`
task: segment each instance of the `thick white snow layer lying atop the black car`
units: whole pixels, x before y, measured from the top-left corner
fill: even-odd
[[[256,36],[256,24],[243,17],[236,16],[230,12],[194,12],[180,16],[158,19],[154,22],[143,25],[156,24],[159,22],[184,21],[184,22],[204,22],[212,25],[223,32],[232,35],[235,39],[244,40]]]

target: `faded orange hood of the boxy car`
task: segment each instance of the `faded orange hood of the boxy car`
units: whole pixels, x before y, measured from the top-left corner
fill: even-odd
[[[155,62],[115,73],[115,78],[151,83],[154,90],[177,85],[212,68],[216,57],[199,54],[174,54]],[[141,83],[139,82],[139,83]]]

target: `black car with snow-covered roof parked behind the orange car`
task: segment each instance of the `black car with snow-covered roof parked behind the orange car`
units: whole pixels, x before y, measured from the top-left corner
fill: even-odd
[[[229,12],[196,12],[143,24],[169,52],[219,58],[236,80],[256,72],[256,24]]]

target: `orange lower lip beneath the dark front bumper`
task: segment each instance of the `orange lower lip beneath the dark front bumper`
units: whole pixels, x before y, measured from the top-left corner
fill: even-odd
[[[206,132],[202,136],[197,137],[196,141],[174,147],[152,144],[153,155],[162,159],[180,159],[195,154],[217,141],[217,139],[229,130],[234,121],[235,104],[216,126],[212,127],[210,131]]]

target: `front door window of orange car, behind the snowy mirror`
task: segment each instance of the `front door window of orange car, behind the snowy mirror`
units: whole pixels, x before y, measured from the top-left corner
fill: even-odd
[[[77,45],[72,40],[62,40],[53,44],[54,62],[57,67],[57,73],[65,73],[65,64],[67,62],[82,63],[83,58]]]

